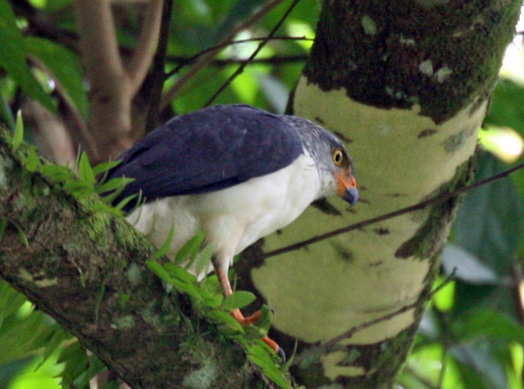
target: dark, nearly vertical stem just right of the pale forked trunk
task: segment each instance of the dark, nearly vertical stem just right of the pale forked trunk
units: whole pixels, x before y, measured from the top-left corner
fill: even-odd
[[[162,97],[162,88],[165,81],[164,72],[166,66],[167,47],[169,43],[169,26],[171,24],[171,10],[173,7],[173,0],[164,0],[162,9],[162,19],[160,22],[160,37],[158,40],[158,48],[153,58],[151,71],[151,87],[148,92],[149,109],[147,111],[146,119],[146,133],[152,131],[158,120],[158,112],[160,107],[160,99]]]

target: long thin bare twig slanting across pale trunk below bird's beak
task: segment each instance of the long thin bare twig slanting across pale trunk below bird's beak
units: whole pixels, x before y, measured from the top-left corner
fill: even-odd
[[[294,244],[290,244],[289,246],[278,248],[277,250],[269,251],[267,253],[258,255],[257,259],[265,259],[265,258],[269,258],[269,257],[272,257],[272,256],[276,256],[276,255],[280,255],[280,254],[284,254],[284,253],[289,253],[290,251],[298,250],[299,248],[302,248],[304,246],[308,246],[310,244],[317,243],[317,242],[329,239],[329,238],[331,238],[333,236],[336,236],[336,235],[344,234],[346,232],[350,232],[350,231],[353,231],[353,230],[358,230],[358,229],[361,229],[361,228],[363,228],[363,227],[365,227],[367,225],[370,225],[370,224],[378,223],[378,222],[381,222],[381,221],[384,221],[384,220],[395,218],[397,216],[400,216],[400,215],[403,215],[403,214],[406,214],[406,213],[410,213],[410,212],[413,212],[413,211],[418,211],[420,209],[424,209],[424,208],[426,208],[428,206],[431,206],[433,204],[436,204],[436,203],[439,203],[439,202],[442,202],[442,201],[446,201],[446,200],[452,199],[454,197],[457,197],[459,195],[462,195],[462,193],[464,193],[464,192],[467,192],[467,191],[470,191],[472,189],[478,188],[480,186],[486,185],[487,183],[490,183],[490,182],[493,182],[493,181],[496,181],[496,180],[499,180],[499,179],[502,179],[502,178],[506,178],[510,174],[514,173],[515,171],[523,169],[523,168],[524,168],[524,163],[522,163],[520,165],[517,165],[517,166],[514,166],[514,167],[512,167],[510,169],[504,170],[504,171],[502,171],[502,172],[500,172],[500,173],[498,173],[498,174],[496,174],[494,176],[488,177],[488,178],[486,178],[484,180],[472,183],[471,185],[466,185],[466,186],[464,186],[462,188],[455,189],[453,192],[441,193],[438,196],[432,197],[432,198],[430,198],[428,200],[421,201],[418,204],[414,204],[414,205],[406,207],[406,208],[401,208],[401,209],[398,209],[396,211],[385,213],[385,214],[379,215],[379,216],[377,216],[375,218],[371,218],[371,219],[363,220],[363,221],[358,222],[358,223],[350,224],[350,225],[347,225],[345,227],[342,227],[342,228],[339,228],[339,229],[336,229],[336,230],[333,230],[333,231],[330,231],[330,232],[326,232],[326,233],[321,234],[321,235],[314,236],[314,237],[312,237],[310,239],[306,239],[306,240],[303,240],[303,241],[300,241],[300,242],[297,242],[297,243],[294,243]]]

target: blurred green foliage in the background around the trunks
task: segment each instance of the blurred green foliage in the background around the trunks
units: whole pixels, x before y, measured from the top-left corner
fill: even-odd
[[[6,126],[14,127],[14,114],[28,98],[56,112],[58,92],[88,117],[71,3],[0,0],[0,122]],[[173,2],[167,71],[177,71],[165,88],[187,71],[194,56],[215,46],[266,3]],[[266,36],[289,4],[278,5],[255,25],[238,31],[235,39]],[[115,3],[123,52],[136,46],[142,7]],[[301,1],[276,34],[300,39],[271,40],[214,103],[243,102],[282,113],[311,47],[320,7],[319,0]],[[257,46],[248,41],[225,47],[184,85],[170,114],[200,109]],[[523,57],[518,35],[508,48],[479,137],[485,151],[479,153],[477,180],[523,161]],[[35,139],[30,122],[26,133],[26,140]],[[436,283],[447,285],[429,304],[399,387],[524,389],[523,200],[522,170],[464,197]],[[102,369],[53,319],[0,281],[0,388],[83,388]]]

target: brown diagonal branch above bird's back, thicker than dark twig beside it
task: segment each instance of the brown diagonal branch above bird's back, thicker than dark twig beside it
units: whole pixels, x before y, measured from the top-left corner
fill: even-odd
[[[284,0],[272,0],[263,7],[261,7],[255,14],[248,18],[244,23],[234,28],[221,42],[221,44],[231,42],[233,38],[242,30],[254,25],[260,18],[266,15],[271,9],[282,3]],[[173,86],[162,96],[160,109],[167,106],[182,90],[182,87],[187,84],[195,75],[202,70],[215,56],[218,50],[209,51],[206,55],[197,60],[193,66],[184,73]]]

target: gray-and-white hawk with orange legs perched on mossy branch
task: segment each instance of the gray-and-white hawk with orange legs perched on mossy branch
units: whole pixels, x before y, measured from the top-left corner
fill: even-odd
[[[233,256],[295,220],[319,198],[358,200],[353,163],[326,129],[300,117],[275,115],[248,105],[215,105],[178,116],[141,139],[118,159],[114,177],[135,178],[115,199],[139,191],[124,208],[127,219],[157,246],[174,222],[168,256],[200,230],[214,244],[212,263],[225,296]],[[233,316],[242,323],[239,310]],[[278,345],[264,339],[272,348]],[[271,343],[272,342],[272,343]]]

